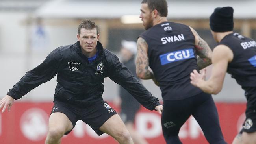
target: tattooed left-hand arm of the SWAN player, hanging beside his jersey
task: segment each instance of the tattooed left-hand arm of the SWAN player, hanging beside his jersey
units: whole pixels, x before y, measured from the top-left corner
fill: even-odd
[[[139,37],[137,40],[137,59],[136,59],[136,73],[139,78],[141,79],[152,79],[154,75],[150,70],[149,67],[149,60],[148,60],[148,45],[147,42]]]

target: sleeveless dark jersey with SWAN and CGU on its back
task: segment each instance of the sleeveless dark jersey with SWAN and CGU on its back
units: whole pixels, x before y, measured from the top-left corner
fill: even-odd
[[[189,26],[163,22],[139,37],[148,44],[149,66],[160,83],[164,100],[179,100],[202,92],[189,79],[193,69],[198,69],[195,37]]]

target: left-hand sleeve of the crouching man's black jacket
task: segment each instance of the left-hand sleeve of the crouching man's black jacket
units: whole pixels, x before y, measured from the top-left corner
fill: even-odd
[[[58,72],[56,52],[51,52],[39,66],[26,72],[19,82],[7,93],[15,100],[30,92],[30,90],[52,79]]]

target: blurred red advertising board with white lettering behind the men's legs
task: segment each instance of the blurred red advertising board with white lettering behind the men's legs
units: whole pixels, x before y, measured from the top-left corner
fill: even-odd
[[[111,106],[111,102],[108,102]],[[11,112],[0,114],[1,144],[44,144],[48,118],[53,103],[15,102]],[[230,144],[245,120],[245,103],[216,103],[221,129]],[[114,107],[119,111],[117,107]],[[161,131],[161,115],[141,107],[135,118],[135,128],[150,144],[165,144]],[[202,130],[191,116],[180,129],[179,137],[184,144],[207,144]],[[87,124],[78,121],[61,144],[117,144],[109,135],[101,136]]]

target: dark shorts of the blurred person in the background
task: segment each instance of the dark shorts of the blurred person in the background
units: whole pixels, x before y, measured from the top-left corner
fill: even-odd
[[[124,123],[134,123],[135,114],[139,111],[141,104],[132,96],[129,100],[123,100],[121,103],[121,113],[119,114]]]

